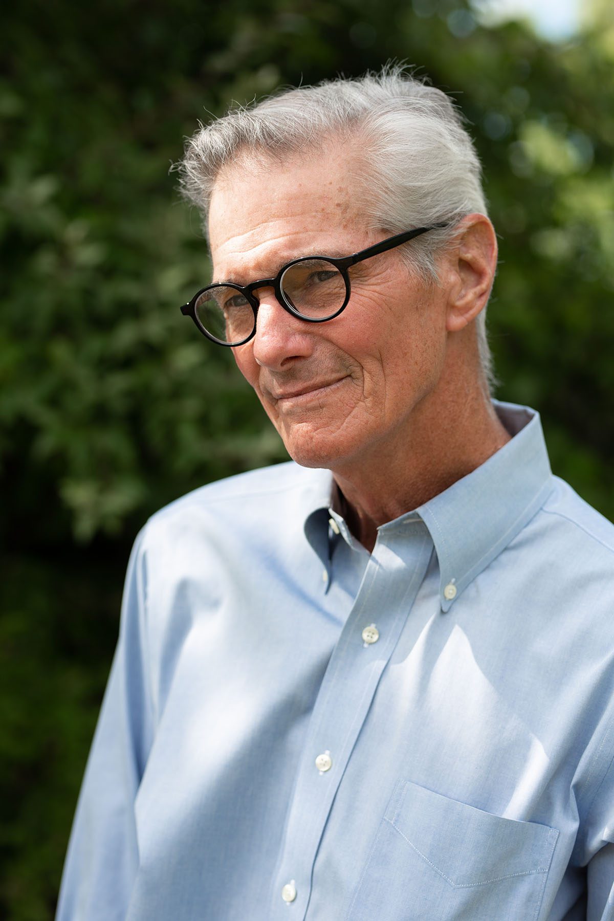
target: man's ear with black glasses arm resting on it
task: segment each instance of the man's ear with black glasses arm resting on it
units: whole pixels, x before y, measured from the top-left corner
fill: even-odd
[[[446,329],[458,332],[486,306],[497,266],[497,239],[485,215],[468,215],[447,254]]]

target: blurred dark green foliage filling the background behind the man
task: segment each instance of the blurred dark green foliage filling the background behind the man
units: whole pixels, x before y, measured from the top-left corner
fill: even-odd
[[[608,7],[585,3],[556,43],[487,28],[462,0],[7,5],[0,917],[52,918],[137,530],[195,486],[285,457],[232,357],[180,316],[208,265],[168,168],[204,109],[388,59],[451,92],[500,238],[497,396],[539,409],[554,472],[614,518]]]

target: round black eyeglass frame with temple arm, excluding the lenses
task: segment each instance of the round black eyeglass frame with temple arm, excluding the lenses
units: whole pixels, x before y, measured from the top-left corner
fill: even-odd
[[[293,259],[291,262],[286,262],[279,272],[274,276],[274,278],[260,278],[258,281],[250,282],[249,285],[236,285],[234,282],[214,282],[213,285],[207,285],[197,291],[194,297],[188,301],[187,304],[181,305],[181,313],[186,317],[191,317],[196,328],[199,332],[202,332],[204,336],[207,337],[211,342],[217,345],[226,345],[229,348],[237,348],[238,345],[245,345],[249,343],[250,339],[253,339],[256,334],[256,321],[258,317],[258,309],[260,307],[260,300],[258,297],[255,297],[254,291],[261,287],[272,287],[275,297],[280,304],[280,306],[293,317],[296,317],[298,320],[304,320],[307,323],[325,323],[329,320],[334,320],[335,317],[338,317],[340,313],[347,307],[348,301],[350,300],[351,286],[350,286],[350,276],[348,274],[348,269],[350,266],[355,265],[357,262],[364,262],[365,259],[371,259],[372,256],[379,255],[380,252],[386,252],[388,250],[393,250],[397,246],[401,246],[403,243],[409,243],[411,239],[420,237],[423,233],[428,233],[429,230],[440,229],[442,227],[447,227],[447,224],[432,224],[431,227],[414,227],[413,230],[405,230],[403,233],[395,234],[393,237],[388,237],[387,239],[381,240],[379,243],[376,243],[374,246],[368,246],[365,250],[360,250],[358,252],[353,252],[351,256],[343,256],[341,259],[338,259],[334,256],[300,256],[298,259]],[[330,262],[331,265],[341,273],[343,282],[345,284],[345,298],[343,300],[342,306],[335,310],[334,313],[331,313],[328,317],[307,317],[305,314],[300,313],[295,307],[289,302],[289,300],[284,295],[284,274],[291,269],[294,265],[298,265],[299,262],[311,262],[313,260],[319,259],[322,262]],[[249,336],[245,336],[243,339],[234,343],[227,343],[223,339],[218,339],[211,332],[207,332],[203,327],[203,324],[198,319],[196,313],[196,303],[205,291],[211,291],[214,288],[221,287],[231,287],[234,290],[237,290],[239,294],[243,295],[249,303],[253,314],[254,314],[254,325],[252,331],[249,333]]]

